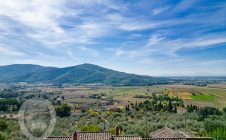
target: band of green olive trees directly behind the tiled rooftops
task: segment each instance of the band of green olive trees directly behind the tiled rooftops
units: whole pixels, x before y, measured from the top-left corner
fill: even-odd
[[[106,125],[106,130],[113,134],[114,128],[119,126],[122,128],[122,134],[124,135],[145,136],[146,121],[148,124],[148,134],[161,129],[164,126],[168,126],[175,130],[184,129],[184,116],[181,114],[130,110],[127,112],[101,112],[97,116],[92,116],[89,115],[88,112],[84,112],[82,116],[76,116],[74,118],[57,118],[57,124],[52,136],[70,136],[75,130],[102,131],[102,116],[105,116],[105,114],[108,114],[105,118],[106,124],[108,124]],[[147,119],[145,116],[147,116]],[[187,130],[189,132],[196,132],[198,136],[213,136],[213,134],[219,136],[219,132],[216,133],[215,130],[221,126],[220,124],[224,124],[226,120],[224,116],[221,115],[217,116],[217,118],[208,116],[208,119],[205,121],[197,121],[197,113],[195,112],[187,113],[186,116]],[[219,120],[219,122],[216,122],[216,120]],[[7,120],[7,124],[8,128],[4,132],[4,134],[8,135],[5,135],[7,136],[6,138],[13,139],[16,136],[18,140],[25,140],[16,120]],[[215,126],[215,124],[217,125]]]

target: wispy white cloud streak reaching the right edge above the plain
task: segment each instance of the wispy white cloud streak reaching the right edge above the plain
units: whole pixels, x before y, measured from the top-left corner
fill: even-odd
[[[186,49],[192,49],[194,51],[200,48],[215,47],[215,45],[222,43],[226,43],[226,38],[220,35],[218,35],[218,37],[215,35],[207,35],[200,38],[170,40],[164,36],[154,34],[143,46],[125,46],[124,48],[112,50],[112,52],[115,52],[114,59],[117,60],[133,59],[134,61],[144,63],[153,59],[158,61],[159,58],[155,58],[155,56],[163,56],[163,58],[170,58],[175,62],[176,60],[181,60],[178,51]],[[168,60],[164,61],[169,62]]]

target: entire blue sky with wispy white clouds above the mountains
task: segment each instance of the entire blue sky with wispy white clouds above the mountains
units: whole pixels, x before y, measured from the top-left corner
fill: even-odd
[[[225,0],[1,0],[0,65],[226,76]]]

